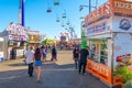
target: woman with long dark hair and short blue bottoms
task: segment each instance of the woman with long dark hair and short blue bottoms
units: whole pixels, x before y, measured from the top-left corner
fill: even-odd
[[[37,47],[34,53],[34,66],[36,69],[36,80],[37,82],[41,81],[41,67],[42,67],[42,52],[41,48]]]

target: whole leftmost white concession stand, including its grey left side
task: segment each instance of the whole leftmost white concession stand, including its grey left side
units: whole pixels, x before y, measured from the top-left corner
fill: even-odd
[[[18,23],[10,23],[8,28],[0,33],[3,38],[1,47],[3,50],[4,59],[15,59],[23,57],[23,52],[26,47],[28,28]]]

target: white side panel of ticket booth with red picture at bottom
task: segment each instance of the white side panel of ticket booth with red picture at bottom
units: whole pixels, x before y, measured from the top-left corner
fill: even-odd
[[[132,65],[132,35],[117,34],[114,37],[114,68]]]

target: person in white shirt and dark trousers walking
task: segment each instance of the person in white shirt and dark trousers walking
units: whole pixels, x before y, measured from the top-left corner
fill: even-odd
[[[30,77],[33,76],[33,58],[34,58],[34,51],[33,51],[33,47],[30,46],[30,50],[26,51],[25,53],[25,62],[29,65],[28,74],[30,75]]]

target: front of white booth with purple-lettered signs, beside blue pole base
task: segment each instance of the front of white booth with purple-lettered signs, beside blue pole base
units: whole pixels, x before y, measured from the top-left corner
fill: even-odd
[[[8,58],[14,59],[24,56],[28,44],[28,28],[18,23],[8,26]]]

